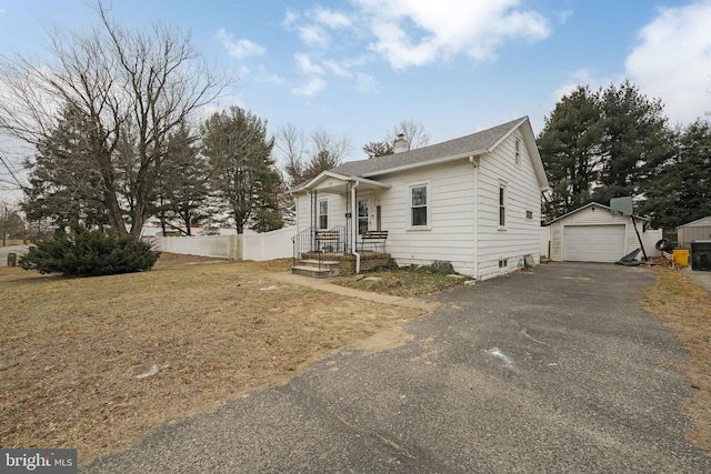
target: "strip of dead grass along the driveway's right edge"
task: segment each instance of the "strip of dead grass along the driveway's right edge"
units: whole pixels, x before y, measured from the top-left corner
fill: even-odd
[[[694,389],[687,404],[694,428],[687,438],[711,452],[711,295],[673,268],[652,271],[657,284],[648,290],[645,306],[691,352],[680,364]]]

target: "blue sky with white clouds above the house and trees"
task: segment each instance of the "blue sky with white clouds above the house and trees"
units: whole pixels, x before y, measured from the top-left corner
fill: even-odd
[[[46,30],[89,26],[92,1],[0,0],[0,54],[41,60]],[[361,147],[402,120],[430,143],[529,115],[575,84],[629,78],[672,123],[711,111],[711,0],[121,0],[116,19],[190,30],[237,104]]]

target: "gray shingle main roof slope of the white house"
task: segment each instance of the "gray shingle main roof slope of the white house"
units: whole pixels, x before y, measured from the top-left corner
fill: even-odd
[[[402,153],[389,154],[387,157],[372,158],[368,160],[349,161],[339,164],[331,171],[351,177],[373,175],[388,170],[407,167],[415,163],[424,163],[438,158],[453,157],[468,152],[481,152],[501,140],[514,127],[525,118],[522,117],[511,122],[491,129],[482,130],[470,135],[449,140],[430,147],[419,148]]]

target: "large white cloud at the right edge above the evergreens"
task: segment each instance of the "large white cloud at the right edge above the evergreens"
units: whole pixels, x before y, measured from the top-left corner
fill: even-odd
[[[711,1],[664,8],[639,33],[627,58],[628,77],[664,102],[672,122],[691,122],[711,110]]]

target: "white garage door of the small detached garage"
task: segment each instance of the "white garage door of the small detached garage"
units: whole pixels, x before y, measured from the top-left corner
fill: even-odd
[[[565,225],[563,260],[567,262],[617,262],[624,256],[624,224]]]

